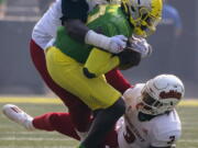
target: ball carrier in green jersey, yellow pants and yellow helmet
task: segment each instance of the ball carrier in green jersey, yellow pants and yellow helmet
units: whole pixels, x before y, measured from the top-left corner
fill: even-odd
[[[118,34],[146,36],[155,30],[161,12],[162,0],[132,0],[123,1],[121,5],[100,5],[89,14],[87,26],[90,30],[86,43],[95,42],[96,34],[91,30],[109,37]],[[121,64],[122,53],[110,54],[77,43],[67,33],[65,27],[58,29],[54,46],[46,52],[47,69],[62,88],[77,95],[97,113],[88,136],[80,145],[97,148],[125,110],[121,94],[103,77],[105,72]],[[105,39],[102,35],[97,34],[97,37]],[[136,58],[136,53],[132,58]]]

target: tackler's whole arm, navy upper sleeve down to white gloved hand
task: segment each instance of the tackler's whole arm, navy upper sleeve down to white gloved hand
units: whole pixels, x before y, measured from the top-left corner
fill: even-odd
[[[127,37],[116,35],[108,37],[85,25],[89,7],[86,0],[63,0],[62,1],[62,24],[67,33],[75,39],[106,49],[110,53],[120,53],[127,45]]]

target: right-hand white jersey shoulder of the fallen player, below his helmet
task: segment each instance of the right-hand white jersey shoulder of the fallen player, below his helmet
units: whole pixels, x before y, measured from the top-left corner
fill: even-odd
[[[182,124],[177,112],[174,110],[169,114],[164,114],[152,119],[152,135],[158,141],[169,141],[178,139],[182,134]]]

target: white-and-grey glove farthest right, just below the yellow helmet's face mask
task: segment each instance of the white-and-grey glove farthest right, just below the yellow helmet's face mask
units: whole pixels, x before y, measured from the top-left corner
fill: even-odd
[[[140,53],[142,58],[150,56],[153,52],[152,46],[143,37],[132,36],[130,46],[133,50]]]

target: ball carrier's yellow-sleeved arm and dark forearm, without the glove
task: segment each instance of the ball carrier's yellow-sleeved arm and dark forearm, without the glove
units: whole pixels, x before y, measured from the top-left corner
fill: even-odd
[[[124,49],[118,55],[94,48],[84,66],[84,75],[87,78],[96,78],[119,67],[122,70],[138,66],[141,54],[131,49]]]

